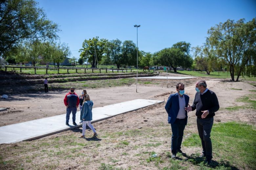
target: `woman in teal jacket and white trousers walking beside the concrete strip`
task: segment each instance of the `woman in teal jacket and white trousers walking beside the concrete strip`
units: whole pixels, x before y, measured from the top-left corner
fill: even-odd
[[[85,135],[85,129],[86,124],[93,130],[94,134],[93,137],[97,136],[96,130],[94,129],[93,125],[91,124],[91,120],[93,120],[93,101],[90,99],[89,95],[86,94],[83,101],[83,107],[81,110],[81,113],[83,113],[83,130],[82,135],[79,136],[79,138],[84,138]]]

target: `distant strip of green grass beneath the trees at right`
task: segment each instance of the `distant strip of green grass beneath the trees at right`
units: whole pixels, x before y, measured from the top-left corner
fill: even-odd
[[[215,78],[231,78],[229,72],[211,72],[210,75],[207,75],[205,71],[177,71],[177,74],[185,74],[185,75],[191,75],[191,76],[197,76],[197,77],[215,77]],[[174,73],[173,71],[169,71],[169,73]],[[234,77],[236,80],[236,76]],[[239,80],[245,79],[250,81],[256,81],[256,77],[239,77]]]

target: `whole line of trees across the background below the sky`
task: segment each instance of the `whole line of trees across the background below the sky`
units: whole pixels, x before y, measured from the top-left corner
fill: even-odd
[[[58,42],[58,31],[59,26],[47,19],[34,0],[0,1],[0,57],[8,62],[31,61],[35,65],[43,60],[59,65],[71,52],[67,44]],[[139,68],[163,65],[172,67],[174,72],[183,67],[207,74],[227,70],[233,81],[240,76],[256,76],[256,18],[247,23],[245,19],[227,20],[207,33],[202,46],[191,48],[189,42],[181,41],[155,53],[137,49],[130,40],[93,37],[82,43],[78,62],[89,62],[92,67],[99,63],[136,67],[138,50]],[[77,62],[76,58],[70,62]]]

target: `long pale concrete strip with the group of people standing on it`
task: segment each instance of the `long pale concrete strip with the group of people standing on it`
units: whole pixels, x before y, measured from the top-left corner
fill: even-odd
[[[138,110],[149,105],[161,103],[160,100],[146,100],[136,99],[127,102],[117,103],[113,105],[107,105],[103,107],[93,108],[93,120],[92,123],[104,120],[121,113],[126,113],[133,110]],[[80,111],[76,112],[76,123],[79,124]],[[69,124],[65,125],[66,114],[57,116],[32,120],[28,122],[22,122],[12,124],[8,126],[0,127],[0,144],[4,143],[16,143],[20,141],[30,141],[38,139],[44,136],[59,133],[61,131],[69,130],[75,127],[81,127],[82,125],[71,126],[72,113],[70,114]]]

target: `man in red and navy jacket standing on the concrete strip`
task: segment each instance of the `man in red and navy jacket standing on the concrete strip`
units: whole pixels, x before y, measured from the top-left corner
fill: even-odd
[[[75,114],[76,114],[76,110],[79,106],[79,97],[75,93],[74,87],[71,87],[70,92],[65,95],[64,104],[67,107],[66,125],[69,126],[69,116],[70,116],[71,112],[72,112],[73,125],[77,125],[75,123]]]

